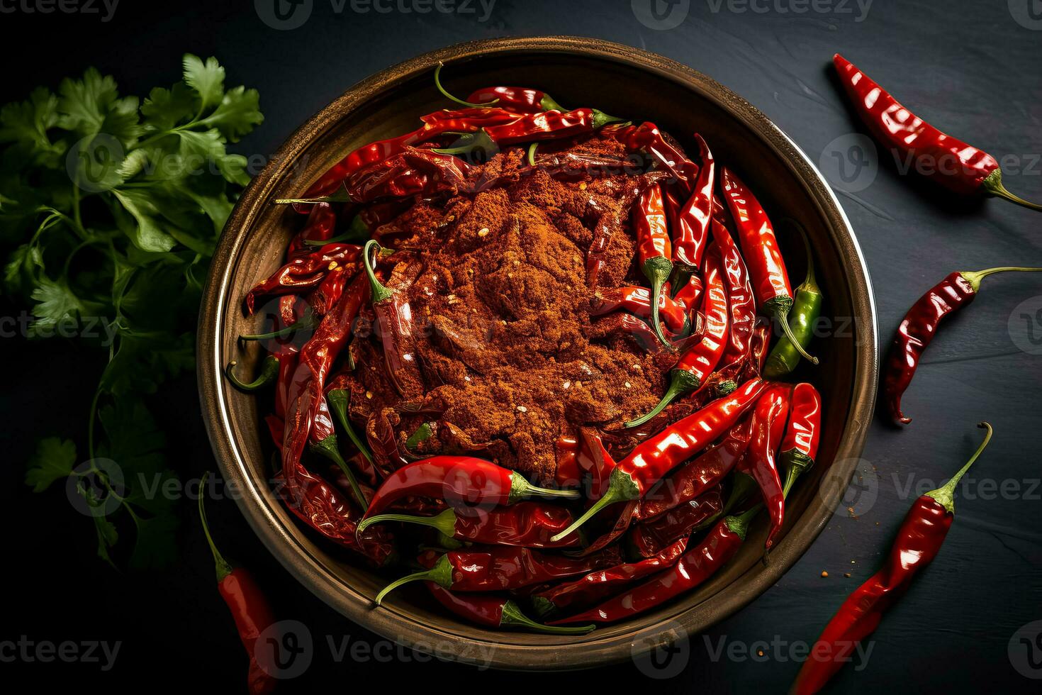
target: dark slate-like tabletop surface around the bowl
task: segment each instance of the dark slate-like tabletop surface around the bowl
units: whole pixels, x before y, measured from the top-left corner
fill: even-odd
[[[115,74],[123,93],[144,95],[178,77],[183,52],[217,55],[229,84],[260,91],[266,122],[239,151],[266,154],[353,82],[406,57],[486,36],[579,34],[645,48],[714,77],[761,108],[813,160],[833,163],[838,172],[832,153],[848,153],[861,132],[830,72],[829,58],[839,50],[920,116],[990,152],[1013,155],[1010,164],[1022,171],[1007,176],[1009,188],[1042,200],[1042,6],[1032,2],[876,0],[863,14],[853,0],[836,0],[825,3],[830,11],[797,14],[799,0],[753,0],[754,8],[766,11],[726,0],[722,5],[691,0],[677,5],[683,10],[690,4],[677,27],[656,30],[638,21],[629,2],[497,0],[481,22],[479,8],[477,15],[358,14],[348,3],[337,14],[328,0],[314,0],[301,28],[276,31],[247,0],[227,7],[198,2],[195,8],[123,0],[109,22],[98,15],[29,14],[24,4],[5,0],[0,3],[2,100],[22,99],[38,83],[56,86],[60,77],[88,65]],[[567,95],[559,98],[567,101]],[[854,188],[865,180],[857,179]],[[885,344],[910,303],[951,270],[1042,265],[1042,216],[997,200],[961,204],[902,176],[889,160],[880,162],[870,185],[840,199],[868,260]],[[1028,299],[1008,326],[1015,307]],[[2,308],[4,315],[17,311]],[[1026,690],[1035,682],[1015,670],[1009,643],[1021,625],[1042,618],[1042,357],[1015,341],[1029,345],[1028,321],[1020,313],[1039,308],[1042,277],[986,280],[982,297],[951,322],[920,369],[905,399],[915,424],[896,431],[873,423],[851,497],[855,518],[846,511],[837,515],[775,587],[709,635],[694,638],[656,673],[678,670],[673,677],[651,680],[647,673],[654,670],[646,663],[552,676],[478,673],[421,661],[398,648],[378,651],[378,659],[338,663],[326,636],[372,645],[378,639],[297,586],[234,504],[214,503],[212,522],[226,552],[252,568],[271,592],[279,617],[303,621],[315,636],[314,663],[287,684],[288,692],[372,688],[378,679],[424,692],[474,685],[581,692],[779,691],[798,665],[787,648],[770,643],[817,636],[846,594],[877,566],[912,498],[931,482],[940,483],[972,451],[979,439],[973,425],[986,418],[995,426],[995,440],[973,476],[977,485],[959,499],[944,549],[876,632],[868,667],[861,672],[848,667],[833,690]],[[1033,336],[1042,334],[1042,325],[1033,328]],[[100,368],[97,355],[58,342],[2,345],[0,445],[6,465],[0,495],[7,591],[0,640],[24,635],[35,641],[118,640],[123,646],[105,673],[93,664],[24,662],[0,663],[0,673],[15,677],[17,670],[48,684],[89,678],[92,686],[119,691],[242,690],[245,657],[214,589],[191,506],[182,508],[178,567],[162,574],[119,574],[95,561],[91,524],[65,502],[61,490],[34,496],[21,482],[36,438],[81,433]],[[172,438],[171,453],[185,477],[212,469],[194,382],[176,384],[157,405],[180,432]],[[1012,481],[1004,495],[987,487],[1002,481]],[[1019,493],[1010,494],[1014,487]],[[730,652],[739,657],[725,651],[714,659],[720,641],[741,650]],[[750,648],[763,649],[764,656],[743,657]],[[1022,648],[1018,653],[1017,663],[1023,663]],[[1035,657],[1042,657],[1042,650]]]

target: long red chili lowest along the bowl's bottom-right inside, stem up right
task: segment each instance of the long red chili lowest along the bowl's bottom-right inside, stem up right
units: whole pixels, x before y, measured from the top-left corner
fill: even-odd
[[[615,622],[650,611],[669,599],[691,591],[716,574],[726,565],[738,549],[749,528],[749,521],[759,506],[737,517],[724,517],[696,546],[688,549],[679,562],[653,575],[650,579],[595,609],[570,618],[550,622],[551,625],[573,622]]]

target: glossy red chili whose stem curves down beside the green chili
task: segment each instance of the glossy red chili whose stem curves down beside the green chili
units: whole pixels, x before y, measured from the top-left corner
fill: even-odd
[[[720,180],[727,206],[738,225],[738,239],[748,264],[760,311],[782,324],[786,337],[804,359],[818,364],[817,357],[807,353],[789,327],[789,309],[793,302],[792,284],[767,213],[752,195],[752,191],[726,167],[720,170]]]

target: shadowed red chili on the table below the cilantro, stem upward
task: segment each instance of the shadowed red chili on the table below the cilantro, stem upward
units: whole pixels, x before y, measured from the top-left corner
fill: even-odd
[[[247,675],[247,688],[252,695],[271,693],[275,690],[276,680],[272,675],[274,664],[262,664],[257,657],[256,643],[260,634],[275,623],[275,618],[271,612],[268,598],[264,595],[253,575],[241,567],[232,568],[230,564],[221,555],[209,535],[209,525],[206,523],[206,507],[203,503],[203,494],[206,477],[208,473],[203,473],[199,479],[199,521],[202,523],[203,533],[206,535],[206,544],[214,554],[214,564],[217,566],[217,589],[221,593],[221,598],[228,605],[231,617],[235,621],[235,629],[239,631],[239,639],[242,640],[243,647],[250,657],[250,670]]]

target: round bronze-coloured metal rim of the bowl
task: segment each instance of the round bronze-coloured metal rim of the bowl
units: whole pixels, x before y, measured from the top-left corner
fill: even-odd
[[[764,138],[793,174],[810,188],[810,197],[828,224],[826,228],[840,250],[844,271],[850,283],[852,312],[867,318],[855,325],[858,349],[854,351],[854,383],[851,405],[847,413],[843,436],[836,451],[829,475],[837,485],[828,486],[800,516],[799,524],[786,535],[771,554],[767,568],[755,574],[747,570],[715,594],[711,600],[687,607],[667,620],[664,629],[649,628],[622,632],[599,641],[572,644],[531,645],[514,642],[503,632],[502,641],[467,642],[489,647],[478,651],[465,648],[458,634],[437,625],[418,621],[414,616],[392,606],[372,611],[368,598],[345,586],[328,571],[322,560],[302,545],[283,525],[272,507],[272,498],[250,474],[243,451],[232,437],[227,408],[227,386],[221,365],[221,333],[225,307],[232,279],[233,260],[240,254],[255,219],[268,203],[273,190],[298,155],[316,136],[333,127],[341,119],[374,95],[393,89],[396,83],[429,72],[439,61],[470,60],[490,53],[565,53],[579,54],[619,63],[629,68],[649,71],[659,77],[688,86],[697,84],[708,98],[714,98],[728,111]],[[234,304],[230,304],[234,305]],[[580,36],[530,36],[488,39],[448,46],[416,56],[382,70],[353,86],[297,128],[279,147],[265,169],[253,178],[237,202],[214,253],[209,274],[202,295],[197,345],[200,406],[214,454],[228,486],[234,487],[235,501],[253,530],[283,567],[316,596],[352,621],[381,637],[421,651],[430,651],[443,660],[481,663],[504,669],[576,669],[625,661],[646,653],[660,645],[686,638],[695,629],[705,629],[738,612],[775,584],[810,547],[825,527],[837,508],[846,483],[861,455],[876,397],[878,348],[875,302],[868,267],[850,222],[832,188],[807,154],[764,114],[716,80],[680,64],[642,49]],[[706,606],[712,603],[712,606]],[[592,636],[596,636],[593,632]],[[640,639],[637,639],[637,637]],[[448,648],[444,648],[448,645]],[[426,649],[424,647],[427,647]]]

